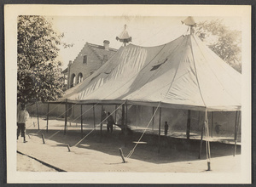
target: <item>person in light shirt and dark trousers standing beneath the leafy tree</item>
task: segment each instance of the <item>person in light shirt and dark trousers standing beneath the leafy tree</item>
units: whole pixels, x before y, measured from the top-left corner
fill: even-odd
[[[20,111],[18,112],[17,116],[17,139],[19,139],[20,132],[21,132],[21,137],[24,139],[24,143],[26,143],[26,121],[29,117],[28,112],[25,109],[25,105],[20,105]]]

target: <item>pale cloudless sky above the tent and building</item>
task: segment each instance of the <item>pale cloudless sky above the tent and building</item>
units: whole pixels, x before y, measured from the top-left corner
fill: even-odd
[[[64,33],[62,42],[73,44],[72,48],[63,48],[58,59],[63,63],[62,69],[67,68],[69,60],[74,60],[86,42],[103,45],[104,40],[110,42],[110,48],[119,49],[123,43],[119,37],[127,26],[132,37],[132,44],[153,47],[185,34],[188,26],[182,24],[184,16],[55,16],[48,17],[56,31]],[[241,20],[236,17],[194,17],[195,22],[221,19],[224,25],[232,30],[241,31]]]

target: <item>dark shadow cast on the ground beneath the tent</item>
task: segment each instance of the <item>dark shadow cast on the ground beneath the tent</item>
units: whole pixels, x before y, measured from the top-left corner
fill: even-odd
[[[126,157],[136,145],[137,140],[141,137],[142,133],[132,131],[133,133],[125,136],[119,128],[113,130],[113,133],[108,133],[106,127],[102,129],[102,135],[100,129],[96,129],[91,132],[92,129],[84,129],[83,135],[78,128],[68,127],[66,134],[61,130],[41,130],[27,129],[26,133],[42,137],[44,133],[44,139],[47,144],[47,140],[55,141],[55,144],[50,146],[70,146],[71,151],[73,145],[77,144],[81,137],[90,133],[80,144],[77,145],[80,149],[97,150],[103,153],[120,156],[119,148],[123,150]],[[59,133],[56,133],[58,132]],[[55,135],[54,135],[55,134]],[[54,135],[54,136],[53,136]],[[160,141],[160,146],[159,146]],[[143,144],[137,144],[136,149],[133,151],[131,158],[140,161],[148,161],[152,163],[171,163],[177,161],[196,161],[198,160],[200,150],[199,139],[178,139],[166,136],[159,136],[156,134],[145,133],[141,139]],[[43,144],[43,141],[42,141]],[[160,150],[160,153],[158,152]],[[86,155],[86,151],[79,151],[77,154]],[[223,144],[218,142],[211,142],[211,155],[212,157],[218,156],[232,156],[234,154],[234,144]],[[241,154],[241,146],[237,145],[236,154]],[[155,159],[159,158],[159,159]],[[201,159],[206,159],[206,144],[203,141],[201,150]]]

